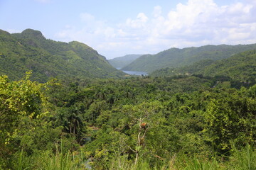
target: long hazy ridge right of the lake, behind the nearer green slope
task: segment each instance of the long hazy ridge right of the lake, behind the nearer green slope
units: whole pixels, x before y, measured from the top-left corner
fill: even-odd
[[[183,67],[200,60],[221,60],[238,52],[255,50],[252,45],[206,45],[202,47],[171,48],[156,55],[143,55],[123,70],[153,72],[166,67]]]

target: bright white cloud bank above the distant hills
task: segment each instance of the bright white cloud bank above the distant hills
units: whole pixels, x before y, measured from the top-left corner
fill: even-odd
[[[150,16],[112,25],[80,13],[82,27],[66,26],[60,40],[78,40],[108,58],[131,53],[157,53],[170,47],[256,43],[256,1],[218,6],[213,0],[188,0],[167,15],[155,6]]]

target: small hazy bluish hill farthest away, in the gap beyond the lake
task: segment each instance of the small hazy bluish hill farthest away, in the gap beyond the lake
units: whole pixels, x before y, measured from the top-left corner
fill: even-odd
[[[131,64],[134,60],[141,57],[142,55],[124,55],[123,57],[116,57],[114,59],[108,60],[110,64],[114,68],[121,69],[122,67],[127,66],[128,64]]]

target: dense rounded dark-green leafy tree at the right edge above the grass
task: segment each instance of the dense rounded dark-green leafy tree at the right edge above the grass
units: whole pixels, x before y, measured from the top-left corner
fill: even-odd
[[[230,141],[254,142],[256,101],[228,91],[215,96],[206,106],[207,126],[203,130],[207,140],[217,149],[230,149]],[[230,95],[231,94],[231,95]],[[241,132],[242,130],[242,132]]]

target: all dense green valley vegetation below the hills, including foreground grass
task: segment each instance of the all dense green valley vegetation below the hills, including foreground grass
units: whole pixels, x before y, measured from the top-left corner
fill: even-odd
[[[80,43],[74,45],[83,49]],[[254,168],[255,85],[223,88],[223,82],[215,86],[217,78],[182,75],[39,84],[28,77],[1,77],[0,111],[6,121],[1,124],[0,166]]]

